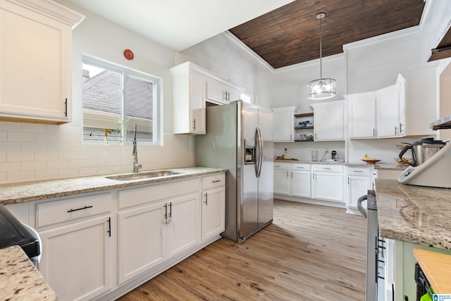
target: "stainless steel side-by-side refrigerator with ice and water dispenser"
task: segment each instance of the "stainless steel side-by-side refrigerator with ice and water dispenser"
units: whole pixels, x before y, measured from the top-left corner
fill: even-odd
[[[196,136],[196,164],[227,168],[226,231],[244,242],[273,221],[272,114],[237,101],[206,108],[206,135]]]

